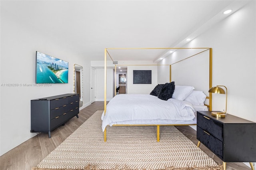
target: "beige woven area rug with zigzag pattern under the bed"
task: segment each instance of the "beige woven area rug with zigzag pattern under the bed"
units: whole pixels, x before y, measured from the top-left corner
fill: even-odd
[[[33,170],[221,170],[212,158],[174,126],[107,128],[104,142],[96,111]]]

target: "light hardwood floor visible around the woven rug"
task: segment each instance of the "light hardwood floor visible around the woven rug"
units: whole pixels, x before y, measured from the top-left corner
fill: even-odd
[[[97,110],[104,110],[104,102],[97,101],[82,109],[78,114],[79,118],[74,117],[64,126],[56,128],[51,132],[51,138],[48,138],[48,133],[40,133],[0,156],[0,170],[31,170],[36,167],[44,157],[52,152]],[[197,145],[196,130],[189,126],[176,126],[176,128]],[[200,148],[218,164],[222,164],[222,161],[204,145],[200,144]],[[227,162],[227,170],[250,170],[250,168],[243,163]]]

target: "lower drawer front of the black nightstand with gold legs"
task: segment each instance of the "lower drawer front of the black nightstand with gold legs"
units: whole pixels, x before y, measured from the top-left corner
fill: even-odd
[[[219,158],[223,159],[223,142],[197,126],[196,138]]]

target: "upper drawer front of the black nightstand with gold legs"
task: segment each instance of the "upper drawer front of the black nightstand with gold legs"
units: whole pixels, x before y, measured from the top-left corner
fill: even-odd
[[[197,112],[197,126],[223,141],[223,124]]]

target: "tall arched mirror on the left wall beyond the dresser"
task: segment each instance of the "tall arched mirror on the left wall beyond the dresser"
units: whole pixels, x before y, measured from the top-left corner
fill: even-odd
[[[79,107],[83,105],[83,67],[78,64],[74,64],[74,93],[79,93]]]

